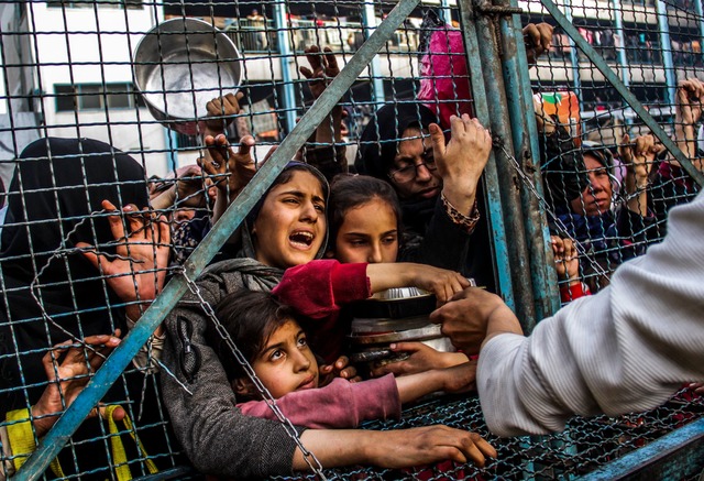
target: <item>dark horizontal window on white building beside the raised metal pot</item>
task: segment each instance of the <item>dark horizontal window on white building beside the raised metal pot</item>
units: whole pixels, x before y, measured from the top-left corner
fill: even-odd
[[[144,107],[131,83],[55,85],[56,111],[129,109]]]

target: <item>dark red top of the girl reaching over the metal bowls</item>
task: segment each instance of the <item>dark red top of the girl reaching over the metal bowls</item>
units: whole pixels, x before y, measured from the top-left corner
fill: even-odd
[[[350,331],[351,320],[341,319],[340,309],[344,304],[372,295],[366,265],[340,264],[332,259],[311,261],[286,270],[272,291],[282,303],[321,321],[307,334],[314,352],[327,363],[338,359],[344,336]]]

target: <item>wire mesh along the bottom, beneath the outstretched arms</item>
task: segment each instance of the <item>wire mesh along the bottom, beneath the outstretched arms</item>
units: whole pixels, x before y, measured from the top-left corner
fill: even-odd
[[[487,460],[484,468],[443,462],[407,470],[355,467],[327,470],[324,473],[330,480],[578,479],[656,441],[673,427],[696,420],[702,409],[701,398],[692,398],[691,393],[681,392],[651,412],[620,417],[575,417],[559,434],[499,439],[488,433],[476,397],[436,398],[406,409],[400,422],[369,423],[365,428],[397,429],[442,423],[485,436],[496,446],[498,457]],[[682,479],[700,472],[701,467],[698,470],[683,467]]]

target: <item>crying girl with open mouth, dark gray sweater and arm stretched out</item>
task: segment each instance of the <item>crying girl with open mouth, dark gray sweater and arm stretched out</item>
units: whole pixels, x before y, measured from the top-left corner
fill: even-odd
[[[328,183],[316,168],[290,163],[248,216],[240,256],[210,265],[197,281],[215,307],[239,289],[271,291],[284,270],[318,259],[326,249]],[[197,294],[187,293],[166,319],[162,376],[174,433],[196,468],[223,478],[262,478],[309,469],[282,423],[244,416],[217,353]],[[186,392],[188,390],[188,392]],[[297,428],[323,467],[373,463],[404,468],[452,458],[471,459],[474,434],[428,426],[407,430]],[[473,459],[473,458],[472,458]]]

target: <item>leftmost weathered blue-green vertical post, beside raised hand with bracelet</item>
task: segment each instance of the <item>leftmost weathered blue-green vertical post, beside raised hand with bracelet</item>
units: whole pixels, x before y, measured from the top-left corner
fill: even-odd
[[[482,122],[482,125],[490,124],[488,106],[486,102],[486,91],[484,89],[482,76],[482,63],[480,61],[480,45],[474,28],[474,11],[471,0],[458,1],[460,17],[462,20],[462,34],[466,53],[468,72],[471,74],[472,99],[474,101],[474,113]],[[501,188],[498,173],[496,171],[496,156],[492,154],[484,168],[485,200],[490,229],[492,232],[493,258],[495,260],[495,278],[498,291],[504,302],[512,309],[516,308],[514,289],[512,282],[510,262],[508,259],[508,241],[506,239],[506,225],[504,223],[504,212],[502,210]]]

